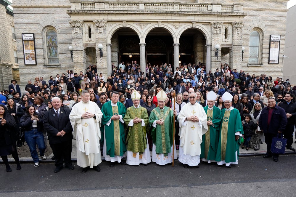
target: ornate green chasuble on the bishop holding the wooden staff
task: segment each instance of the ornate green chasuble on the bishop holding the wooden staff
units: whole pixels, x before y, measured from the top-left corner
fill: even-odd
[[[173,145],[173,110],[169,107],[160,109],[154,108],[149,117],[149,124],[151,124],[151,135],[153,143],[155,144],[156,154],[163,153],[167,155],[171,152],[171,146]],[[152,126],[155,120],[163,119],[164,124],[156,124],[156,127]]]

